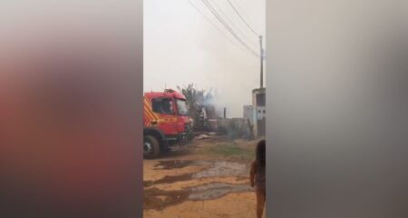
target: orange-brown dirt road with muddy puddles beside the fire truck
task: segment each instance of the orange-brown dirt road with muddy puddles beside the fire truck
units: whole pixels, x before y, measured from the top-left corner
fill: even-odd
[[[255,144],[213,136],[144,160],[144,217],[256,217],[248,179]]]

